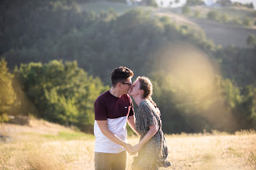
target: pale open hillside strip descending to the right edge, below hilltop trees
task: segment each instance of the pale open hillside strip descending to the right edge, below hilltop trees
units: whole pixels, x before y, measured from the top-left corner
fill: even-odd
[[[202,29],[206,32],[207,39],[212,39],[216,45],[221,46],[237,46],[247,47],[247,37],[249,35],[256,36],[256,28],[244,26],[232,26],[221,24],[207,19],[195,19],[193,17],[186,17],[176,12],[170,12],[170,9],[159,9],[157,14],[168,15],[174,22],[182,25],[189,25],[195,29]]]

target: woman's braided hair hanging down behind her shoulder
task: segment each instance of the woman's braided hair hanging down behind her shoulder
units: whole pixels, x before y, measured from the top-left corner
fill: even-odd
[[[138,76],[137,80],[140,81],[140,90],[144,90],[142,98],[150,100],[150,102],[156,107],[157,113],[160,114],[160,110],[157,107],[157,104],[152,100],[153,94],[153,85],[147,76]]]

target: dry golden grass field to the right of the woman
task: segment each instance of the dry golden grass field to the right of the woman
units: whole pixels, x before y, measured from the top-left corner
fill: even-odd
[[[255,169],[256,134],[168,136],[173,169]]]

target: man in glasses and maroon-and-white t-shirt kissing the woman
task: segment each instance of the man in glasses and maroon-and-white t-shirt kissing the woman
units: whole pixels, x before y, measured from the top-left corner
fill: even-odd
[[[112,87],[95,100],[95,170],[126,169],[126,122],[135,131],[133,101],[127,94],[132,85],[133,71],[120,66],[111,73]]]

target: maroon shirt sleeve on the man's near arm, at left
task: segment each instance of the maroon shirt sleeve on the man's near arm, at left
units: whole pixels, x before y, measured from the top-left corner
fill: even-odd
[[[107,106],[106,102],[102,98],[95,100],[95,120],[96,121],[107,121]]]

